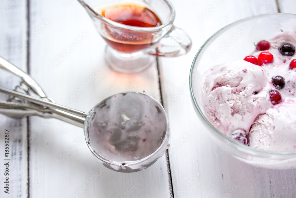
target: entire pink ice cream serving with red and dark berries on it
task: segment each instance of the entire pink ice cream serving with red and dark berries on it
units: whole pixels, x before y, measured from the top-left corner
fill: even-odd
[[[295,38],[283,32],[260,41],[244,60],[202,76],[203,106],[213,126],[254,148],[296,151]]]

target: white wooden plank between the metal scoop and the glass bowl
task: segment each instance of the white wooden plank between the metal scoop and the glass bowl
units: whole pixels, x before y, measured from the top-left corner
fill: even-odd
[[[277,12],[276,2],[172,3],[176,9],[174,24],[186,31],[193,42],[192,50],[186,56],[159,59],[163,99],[171,126],[169,157],[174,196],[295,197],[292,187],[295,186],[295,170],[256,169],[226,153],[215,156],[219,148],[207,136],[194,112],[188,85],[193,58],[207,38],[236,20]]]

